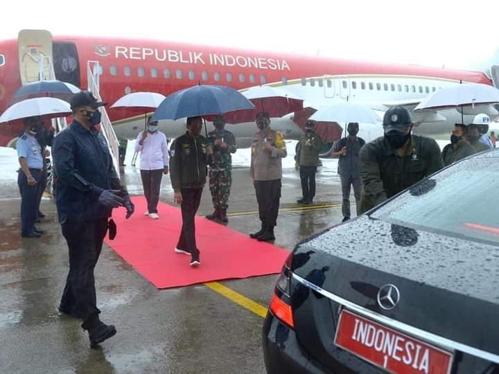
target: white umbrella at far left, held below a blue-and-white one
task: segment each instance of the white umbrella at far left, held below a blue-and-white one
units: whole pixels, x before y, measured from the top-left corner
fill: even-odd
[[[58,98],[30,98],[8,107],[0,116],[0,123],[32,116],[64,117],[71,114],[69,103]]]

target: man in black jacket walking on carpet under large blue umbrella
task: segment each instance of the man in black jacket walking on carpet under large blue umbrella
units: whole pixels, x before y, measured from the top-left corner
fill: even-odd
[[[170,147],[170,179],[175,202],[182,208],[182,231],[175,252],[191,255],[191,266],[201,265],[195,242],[195,213],[213,152],[207,139],[200,135],[201,129],[201,117],[187,118],[187,132],[175,139]]]

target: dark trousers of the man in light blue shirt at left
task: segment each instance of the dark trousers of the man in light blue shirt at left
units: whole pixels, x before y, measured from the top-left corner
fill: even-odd
[[[21,234],[33,233],[35,221],[38,217],[38,191],[40,190],[40,169],[30,169],[31,175],[37,181],[35,186],[28,184],[28,178],[22,170],[17,175],[17,185],[21,193]]]

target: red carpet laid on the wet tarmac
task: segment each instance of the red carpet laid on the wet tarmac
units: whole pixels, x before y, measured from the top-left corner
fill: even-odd
[[[190,267],[191,256],[173,251],[182,226],[180,208],[160,202],[159,220],[151,220],[143,215],[146,199],[132,197],[132,201],[135,213],[129,220],[125,220],[123,208],[114,209],[118,235],[114,240],[106,237],[105,242],[157,288],[277,274],[289,254],[245,233],[196,217],[201,265]]]

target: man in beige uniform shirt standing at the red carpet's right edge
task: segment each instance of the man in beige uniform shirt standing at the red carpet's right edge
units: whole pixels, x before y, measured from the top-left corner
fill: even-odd
[[[250,172],[259,204],[261,229],[249,236],[261,242],[270,242],[275,240],[274,226],[277,225],[281,198],[281,159],[288,153],[282,134],[270,130],[270,116],[267,112],[256,115],[256,125],[260,131],[253,139]]]

